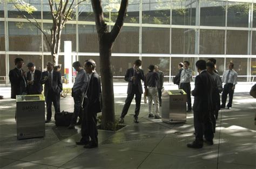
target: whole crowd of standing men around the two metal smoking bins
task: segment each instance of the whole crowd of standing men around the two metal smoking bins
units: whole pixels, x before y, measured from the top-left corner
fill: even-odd
[[[47,71],[41,72],[35,68],[33,63],[27,65],[29,72],[23,71],[24,61],[22,58],[15,59],[16,67],[9,72],[11,81],[11,98],[16,95],[42,94],[44,85],[44,95],[46,102],[46,121],[51,122],[52,103],[55,113],[60,112],[60,93],[62,92],[62,77],[59,71],[53,69],[53,63],[47,63]],[[149,99],[149,118],[161,118],[159,106],[161,106],[161,92],[163,91],[164,73],[159,71],[158,66],[149,65],[149,72],[144,74],[141,60],[136,60],[133,67],[127,69],[125,81],[128,82],[127,98],[119,119],[119,123],[124,123],[133,97],[135,95],[136,108],[134,112],[134,122],[139,123],[138,115],[140,102],[142,100],[144,81],[145,93]],[[74,113],[68,129],[74,129],[75,125],[81,124],[82,138],[77,145],[84,145],[85,148],[98,146],[97,113],[102,111],[101,105],[101,83],[98,73],[95,71],[96,62],[92,59],[84,62],[84,68],[79,61],[72,65],[77,73],[75,83],[72,88],[72,97],[75,102]],[[237,84],[237,73],[233,70],[233,63],[228,64],[228,70],[224,72],[222,79],[216,70],[216,60],[214,58],[198,60],[196,67],[199,75],[195,79],[194,90],[191,91],[192,70],[189,68],[190,62],[180,62],[179,72],[173,82],[183,89],[187,94],[187,112],[192,111],[191,94],[194,96],[193,114],[194,129],[196,139],[187,144],[188,147],[201,148],[203,142],[213,144],[216,119],[220,108],[225,108],[227,94],[229,101],[227,108],[232,107],[232,98],[235,85]],[[222,83],[225,83],[224,88]],[[220,105],[220,93],[222,94]],[[154,111],[152,110],[154,102]],[[77,118],[79,121],[77,122]],[[205,139],[203,139],[203,137]]]

